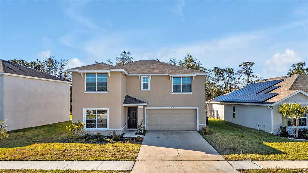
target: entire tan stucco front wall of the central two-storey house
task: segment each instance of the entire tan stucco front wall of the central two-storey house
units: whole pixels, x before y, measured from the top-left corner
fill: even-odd
[[[150,91],[141,91],[139,76],[125,76],[121,72],[111,72],[107,77],[108,93],[84,93],[85,75],[81,77],[78,72],[72,72],[72,81],[73,122],[83,122],[83,108],[109,108],[109,129],[121,129],[127,124],[128,107],[123,106],[123,101],[125,95],[130,95],[148,102],[147,107],[199,107],[199,124],[205,124],[204,75],[195,76],[192,80],[193,94],[171,94],[172,80],[169,76],[152,76]],[[138,117],[144,119],[144,109],[138,110]],[[109,134],[109,131],[87,132]]]

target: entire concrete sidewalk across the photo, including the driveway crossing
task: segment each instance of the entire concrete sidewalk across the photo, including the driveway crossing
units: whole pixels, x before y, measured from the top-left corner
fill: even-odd
[[[0,169],[132,170],[134,161],[0,161]],[[237,172],[235,169],[308,168],[307,160],[137,161],[132,172]],[[151,169],[148,169],[151,168]]]

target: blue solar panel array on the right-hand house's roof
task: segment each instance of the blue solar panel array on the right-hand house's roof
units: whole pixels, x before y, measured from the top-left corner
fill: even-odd
[[[268,93],[278,88],[274,86],[283,79],[252,83],[244,88],[235,90],[227,95],[218,96],[211,101],[215,102],[245,102],[245,103],[262,103],[278,93]],[[273,87],[272,87],[273,86]],[[263,92],[262,92],[263,91]]]

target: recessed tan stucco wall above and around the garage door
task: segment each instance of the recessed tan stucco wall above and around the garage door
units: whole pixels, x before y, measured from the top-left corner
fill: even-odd
[[[126,76],[126,94],[148,102],[146,107],[199,107],[199,124],[205,124],[204,75],[192,78],[192,94],[171,94],[169,76],[152,76],[150,91],[141,91],[140,82],[139,76]]]

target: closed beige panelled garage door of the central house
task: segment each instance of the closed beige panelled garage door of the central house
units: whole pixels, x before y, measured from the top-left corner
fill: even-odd
[[[196,109],[147,109],[147,130],[196,130]]]

